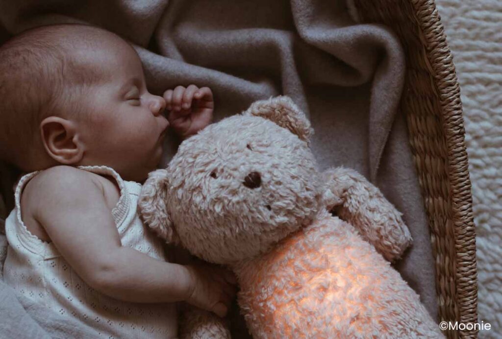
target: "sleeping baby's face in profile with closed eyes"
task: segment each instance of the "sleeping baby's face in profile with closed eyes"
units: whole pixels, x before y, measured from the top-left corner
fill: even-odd
[[[123,41],[76,52],[102,78],[82,96],[78,120],[83,165],[107,165],[125,180],[141,182],[155,169],[168,127],[165,100],[148,92],[141,61]]]

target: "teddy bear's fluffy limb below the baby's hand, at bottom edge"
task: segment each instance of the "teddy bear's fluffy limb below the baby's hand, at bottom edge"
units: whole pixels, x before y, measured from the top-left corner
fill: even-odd
[[[181,307],[178,336],[180,339],[226,339],[230,338],[230,331],[224,318],[185,303]]]

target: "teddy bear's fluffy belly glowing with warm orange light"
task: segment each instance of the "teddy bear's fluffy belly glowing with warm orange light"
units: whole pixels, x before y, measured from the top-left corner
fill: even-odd
[[[429,317],[399,273],[338,218],[287,238],[237,275],[256,337],[399,337]]]

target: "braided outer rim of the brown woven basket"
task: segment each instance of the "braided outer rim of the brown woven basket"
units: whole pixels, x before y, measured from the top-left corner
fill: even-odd
[[[427,56],[444,119],[448,147],[448,175],[454,204],[452,217],[457,265],[456,293],[460,311],[458,320],[463,323],[475,323],[477,322],[475,229],[460,86],[453,55],[447,44],[444,27],[434,1],[413,0],[412,4],[425,38]]]

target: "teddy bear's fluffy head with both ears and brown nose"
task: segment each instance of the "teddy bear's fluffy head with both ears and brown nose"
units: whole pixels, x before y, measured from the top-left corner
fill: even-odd
[[[150,174],[142,219],[168,242],[231,264],[315,217],[319,179],[305,114],[288,97],[255,102],[182,142]]]

